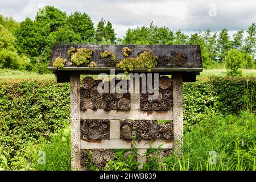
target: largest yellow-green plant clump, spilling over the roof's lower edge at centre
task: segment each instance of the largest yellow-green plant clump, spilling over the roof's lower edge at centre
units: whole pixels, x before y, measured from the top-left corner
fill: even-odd
[[[156,67],[158,57],[151,52],[144,51],[136,58],[126,58],[121,60],[118,64],[118,68],[123,68],[123,71],[133,71],[134,68],[147,68],[148,72],[151,72],[151,68]]]

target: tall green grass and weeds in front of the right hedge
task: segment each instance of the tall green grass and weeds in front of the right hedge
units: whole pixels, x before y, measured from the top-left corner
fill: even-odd
[[[243,171],[255,170],[255,114],[210,114],[184,134],[183,156],[173,154],[163,162],[151,163],[151,170]],[[244,144],[242,144],[242,141]],[[211,164],[210,151],[216,152]],[[148,168],[146,168],[148,169]]]

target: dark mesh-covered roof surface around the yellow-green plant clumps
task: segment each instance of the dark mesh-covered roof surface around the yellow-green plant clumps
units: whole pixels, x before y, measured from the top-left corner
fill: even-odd
[[[79,48],[89,48],[93,49],[94,53],[91,61],[94,61],[98,67],[116,67],[116,64],[125,59],[123,56],[123,47],[128,47],[131,49],[129,57],[137,57],[143,51],[150,51],[154,55],[158,56],[158,65],[159,68],[202,68],[201,60],[201,51],[200,46],[196,45],[167,45],[167,46],[147,46],[147,45],[85,45],[85,44],[57,44],[52,48],[51,54],[51,63],[49,66],[52,66],[53,61],[56,57],[63,57],[68,60],[70,63],[70,57],[68,57],[67,52],[69,48],[74,47]],[[100,52],[110,51],[113,52],[117,58],[117,63],[111,60],[110,57],[102,58]],[[79,67],[86,67],[86,64],[82,64]],[[67,64],[66,67],[77,67],[76,65]]]

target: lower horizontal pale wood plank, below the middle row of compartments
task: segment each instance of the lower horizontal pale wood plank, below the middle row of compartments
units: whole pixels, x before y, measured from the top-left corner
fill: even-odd
[[[145,149],[150,148],[150,140],[136,140],[136,148]],[[100,140],[97,142],[88,142],[81,140],[81,149],[92,149],[92,148],[131,148],[132,140],[122,140],[122,139],[109,139]],[[163,144],[163,145],[162,145]],[[151,143],[152,148],[173,148],[172,140],[154,140]]]

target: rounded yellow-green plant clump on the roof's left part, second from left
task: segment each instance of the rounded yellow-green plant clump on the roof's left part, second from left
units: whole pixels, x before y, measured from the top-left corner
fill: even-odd
[[[71,61],[76,65],[81,65],[83,63],[90,63],[94,51],[88,48],[77,49],[76,53],[71,56]]]

